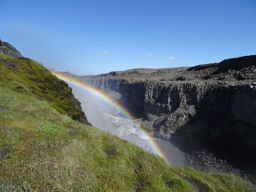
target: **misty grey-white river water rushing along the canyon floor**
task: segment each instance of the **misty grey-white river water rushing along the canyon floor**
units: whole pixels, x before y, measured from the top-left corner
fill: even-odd
[[[73,88],[74,96],[81,102],[81,107],[83,108],[88,121],[94,127],[102,129],[103,131],[108,131],[141,148],[145,148],[145,150],[158,154],[159,150],[156,151],[151,148],[152,140],[154,140],[154,145],[157,145],[157,148],[160,149],[161,154],[163,154],[167,163],[172,166],[183,165],[183,160],[185,158],[184,153],[175,145],[158,138],[146,137],[140,128],[137,128],[134,125],[134,122],[131,119],[123,117],[122,113],[113,107],[113,105],[93,93],[81,90],[72,85],[70,86]]]

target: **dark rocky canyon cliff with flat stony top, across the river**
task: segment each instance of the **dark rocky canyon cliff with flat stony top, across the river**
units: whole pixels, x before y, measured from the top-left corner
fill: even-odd
[[[119,92],[119,102],[146,128],[153,127],[156,137],[189,140],[196,134],[205,142],[218,141],[230,153],[256,154],[256,55],[81,78]]]

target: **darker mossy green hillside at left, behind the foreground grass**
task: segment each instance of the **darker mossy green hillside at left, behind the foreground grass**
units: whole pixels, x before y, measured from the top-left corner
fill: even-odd
[[[62,114],[87,122],[80,102],[71,87],[29,58],[11,58],[0,54],[0,86],[47,101]]]

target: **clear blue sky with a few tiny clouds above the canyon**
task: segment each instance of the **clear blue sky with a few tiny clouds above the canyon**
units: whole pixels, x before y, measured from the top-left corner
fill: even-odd
[[[255,0],[0,0],[0,38],[78,75],[256,54]]]

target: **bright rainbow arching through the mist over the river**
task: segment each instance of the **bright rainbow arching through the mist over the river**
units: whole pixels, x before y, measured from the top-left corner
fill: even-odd
[[[52,72],[52,74],[57,76],[59,79],[66,81],[67,83],[76,85],[77,87],[80,87],[83,90],[87,90],[90,93],[93,93],[94,95],[99,96],[101,99],[105,100],[109,104],[116,107],[126,118],[131,119],[134,122],[135,126],[140,129],[143,135],[148,139],[151,145],[150,146],[151,150],[155,154],[158,154],[161,157],[163,157],[166,160],[166,162],[169,163],[167,161],[167,158],[165,157],[165,155],[163,154],[163,152],[155,142],[155,139],[153,139],[153,137],[145,131],[145,128],[143,128],[142,125],[139,125],[137,122],[134,121],[135,118],[132,115],[132,113],[130,113],[127,109],[125,109],[121,104],[115,102],[113,99],[111,99],[110,97],[102,93],[100,90],[93,88],[91,85],[87,84],[85,81],[83,81],[79,77],[66,75],[65,73],[59,73],[59,72]]]

